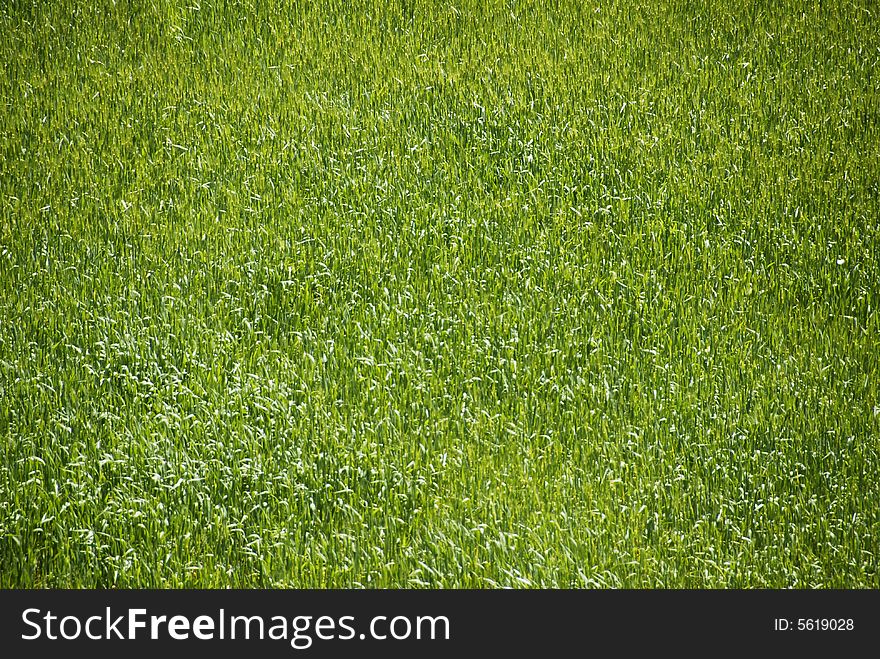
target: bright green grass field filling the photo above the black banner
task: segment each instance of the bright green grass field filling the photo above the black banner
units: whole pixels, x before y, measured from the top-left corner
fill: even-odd
[[[92,4],[0,9],[0,586],[880,587],[875,2]]]

